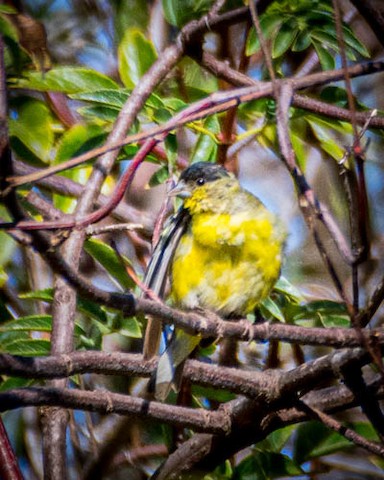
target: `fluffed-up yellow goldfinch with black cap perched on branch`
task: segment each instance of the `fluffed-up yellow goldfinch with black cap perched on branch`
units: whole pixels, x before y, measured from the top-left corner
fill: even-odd
[[[252,312],[278,279],[285,231],[263,203],[217,164],[198,162],[180,176],[171,195],[183,204],[164,229],[145,276],[146,285],[164,295],[170,277],[175,307],[216,312],[224,318]],[[161,327],[149,321],[144,356],[157,353]],[[174,332],[161,355],[155,396],[164,400],[179,365],[200,336]]]

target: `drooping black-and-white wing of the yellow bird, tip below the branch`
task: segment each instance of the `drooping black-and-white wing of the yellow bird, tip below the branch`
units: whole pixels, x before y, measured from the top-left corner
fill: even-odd
[[[159,297],[163,297],[167,284],[169,266],[182,234],[188,227],[190,215],[181,207],[170,218],[153,251],[145,277],[144,285]],[[155,317],[148,319],[144,337],[143,355],[151,359],[157,355],[161,338],[161,322]]]

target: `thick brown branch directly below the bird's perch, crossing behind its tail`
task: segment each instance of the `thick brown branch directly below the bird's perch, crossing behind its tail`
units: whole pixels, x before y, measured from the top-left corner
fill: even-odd
[[[280,338],[283,338],[284,334],[285,332],[281,332]],[[309,361],[289,371],[239,371],[189,360],[184,374],[190,382],[198,385],[228,389],[250,398],[261,396],[271,400],[279,396],[288,397],[297,391],[303,394],[319,383],[337,378],[341,375],[341,370],[349,365],[359,368],[370,361],[371,358],[364,349],[349,348]],[[142,355],[118,352],[72,352],[36,358],[0,354],[0,374],[36,379],[68,378],[87,373],[149,377],[156,368],[155,359],[148,361],[143,360]]]

